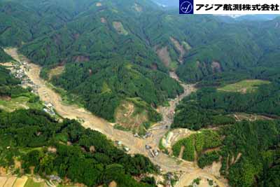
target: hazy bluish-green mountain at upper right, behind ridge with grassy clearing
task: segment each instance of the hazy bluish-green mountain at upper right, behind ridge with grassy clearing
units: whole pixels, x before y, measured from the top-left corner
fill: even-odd
[[[278,25],[279,18],[267,22],[235,22],[219,26],[221,32],[217,31],[218,34],[211,37],[210,43],[193,48],[177,73],[186,81],[200,81],[219,72],[279,67]],[[192,73],[186,74],[189,71]]]

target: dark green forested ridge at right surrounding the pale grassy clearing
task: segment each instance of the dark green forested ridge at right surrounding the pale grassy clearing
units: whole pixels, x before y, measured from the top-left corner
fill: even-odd
[[[192,95],[185,97],[176,108],[173,127],[187,127],[199,130],[202,127],[233,123],[232,113],[256,113],[279,118],[280,69],[259,68],[251,71],[237,71],[235,74],[217,74],[208,76],[198,86],[202,87]],[[249,90],[249,83],[238,90],[236,83],[240,80],[267,80]],[[240,83],[240,82],[239,82]],[[231,85],[232,90],[224,89]]]

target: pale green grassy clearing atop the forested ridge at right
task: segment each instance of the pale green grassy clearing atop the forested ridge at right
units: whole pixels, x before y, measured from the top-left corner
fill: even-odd
[[[222,88],[218,88],[218,90],[225,91],[225,92],[253,92],[255,91],[258,86],[269,84],[269,81],[262,81],[262,80],[244,80],[239,81],[238,83],[225,85]]]

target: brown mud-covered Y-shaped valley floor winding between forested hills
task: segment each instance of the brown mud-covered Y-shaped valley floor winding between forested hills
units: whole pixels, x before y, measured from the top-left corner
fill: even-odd
[[[113,128],[113,124],[109,123],[108,121],[99,118],[97,116],[94,116],[90,111],[87,111],[83,108],[80,108],[80,106],[76,105],[65,105],[62,102],[62,98],[60,97],[57,92],[52,90],[48,87],[47,83],[39,76],[41,67],[39,67],[36,64],[33,64],[27,60],[27,58],[22,57],[22,55],[18,54],[18,50],[16,48],[7,48],[5,49],[6,53],[8,55],[12,56],[13,59],[19,61],[19,62],[27,62],[28,64],[28,70],[25,69],[25,74],[30,78],[30,80],[38,86],[38,96],[41,98],[43,102],[50,102],[53,104],[55,111],[64,118],[69,119],[83,119],[83,127],[90,128],[92,130],[97,130],[99,132],[102,132],[102,134],[105,134],[106,137],[113,141],[122,141],[122,143],[130,148],[131,154],[140,153],[143,155],[146,155],[148,158],[151,159],[151,161],[155,165],[159,165],[162,169],[162,172],[183,172],[182,176],[188,176],[189,174],[192,174],[195,172],[195,174],[200,173],[202,169],[197,168],[197,166],[194,164],[194,162],[187,162],[181,160],[181,162],[178,162],[175,158],[170,158],[168,155],[164,153],[159,153],[159,155],[155,158],[153,158],[148,151],[146,151],[145,146],[151,145],[153,148],[158,148],[160,139],[163,137],[163,135],[169,130],[166,128],[166,126],[170,127],[170,125],[173,122],[174,118],[174,111],[176,109],[176,104],[178,104],[183,97],[186,97],[187,95],[190,95],[191,92],[195,91],[194,85],[186,85],[184,83],[181,83],[179,81],[179,78],[174,74],[174,72],[170,73],[170,76],[179,83],[184,88],[183,94],[176,97],[176,99],[173,99],[169,102],[170,106],[168,107],[160,107],[158,111],[162,113],[163,120],[155,124],[151,128],[151,132],[153,133],[152,137],[149,137],[147,139],[140,139],[137,137],[134,137],[132,132],[125,132],[121,130],[116,130]],[[22,67],[22,69],[24,69]],[[211,174],[208,174],[211,176],[210,178],[216,181],[217,179],[215,176],[212,176]],[[188,178],[187,178],[188,179]],[[186,177],[182,178],[181,181],[184,181],[183,183],[186,183]],[[176,187],[181,187],[177,185]],[[220,187],[224,187],[225,185],[221,183],[219,185]]]

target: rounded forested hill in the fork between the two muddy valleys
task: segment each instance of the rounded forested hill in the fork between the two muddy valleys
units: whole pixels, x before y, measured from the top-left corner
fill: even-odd
[[[114,119],[116,108],[124,99],[139,97],[148,103],[144,108],[155,114],[149,119],[157,121],[151,106],[183,91],[179,83],[160,71],[117,60],[68,64],[62,75],[52,78],[52,83],[80,95],[87,109],[109,120]]]

